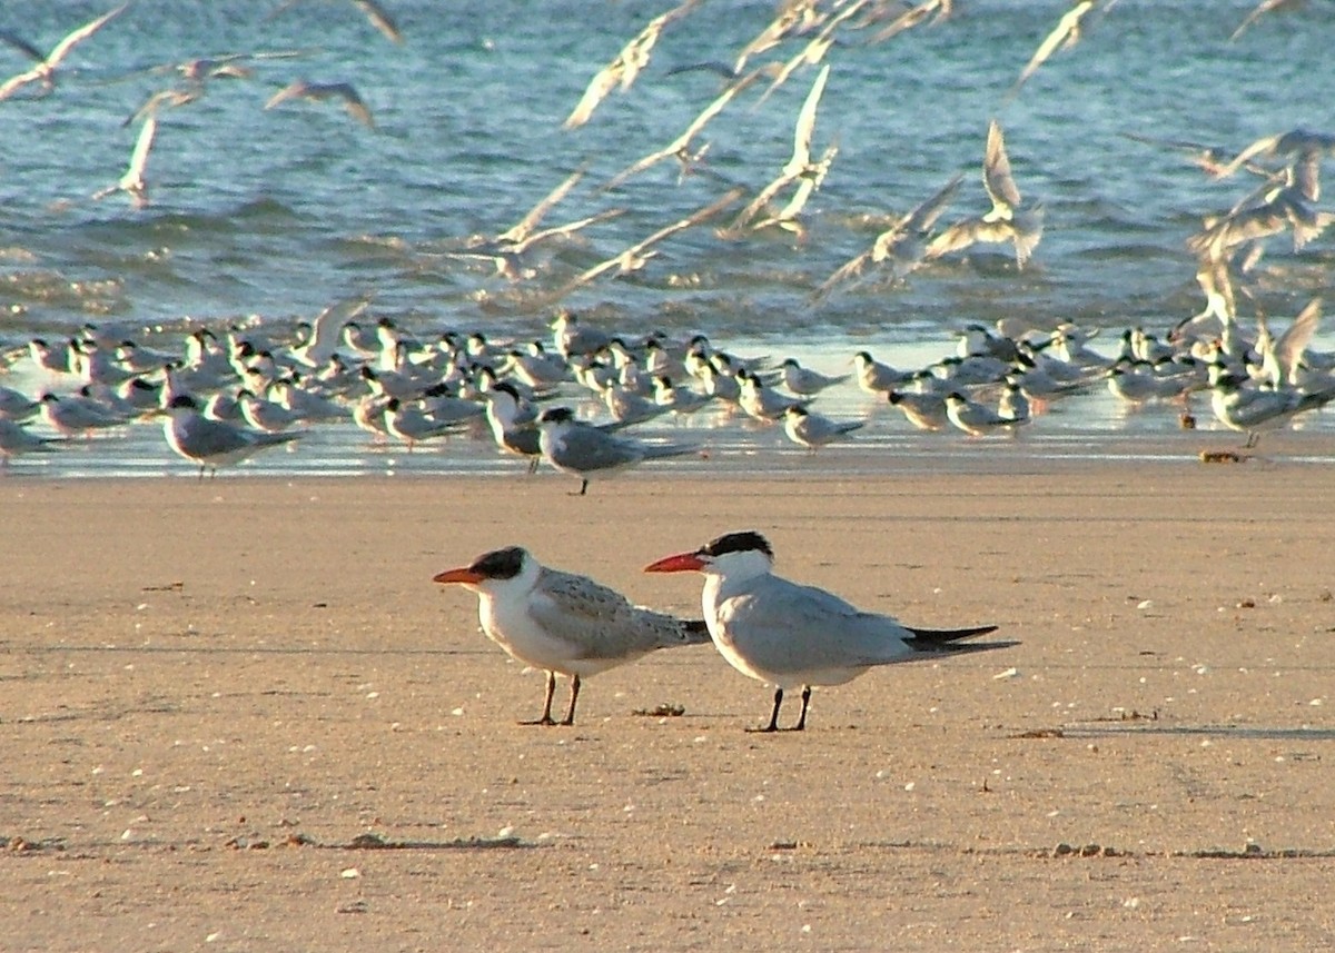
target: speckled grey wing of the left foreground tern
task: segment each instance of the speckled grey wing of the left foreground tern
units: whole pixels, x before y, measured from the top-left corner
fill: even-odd
[[[530,614],[551,635],[575,649],[575,658],[631,658],[693,638],[685,622],[641,609],[614,589],[574,573],[543,569]],[[708,638],[708,637],[706,637]]]

